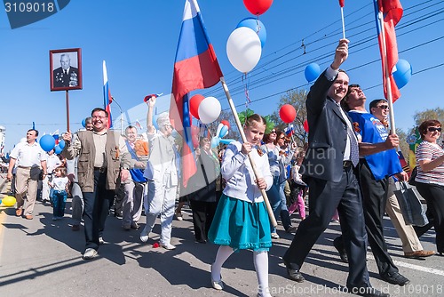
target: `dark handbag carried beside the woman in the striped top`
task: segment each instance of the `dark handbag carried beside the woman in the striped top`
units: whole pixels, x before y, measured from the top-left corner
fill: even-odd
[[[400,204],[400,212],[406,224],[422,227],[429,223],[425,215],[420,195],[414,188],[409,188],[405,181],[397,181],[399,189],[393,191]],[[398,188],[398,187],[397,187]]]

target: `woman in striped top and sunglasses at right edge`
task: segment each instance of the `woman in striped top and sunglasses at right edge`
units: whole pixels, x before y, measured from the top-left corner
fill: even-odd
[[[444,150],[437,143],[440,138],[441,124],[437,120],[426,120],[418,127],[423,142],[416,149],[416,189],[427,202],[430,221],[436,232],[436,248],[444,253]],[[429,224],[432,225],[432,224]],[[418,228],[420,237],[427,228]]]

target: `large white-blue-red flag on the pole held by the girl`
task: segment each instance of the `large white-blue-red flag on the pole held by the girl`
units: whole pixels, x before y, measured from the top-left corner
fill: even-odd
[[[196,172],[187,94],[218,84],[220,77],[222,71],[203,25],[199,5],[196,0],[186,0],[178,37],[170,102],[171,123],[184,139],[181,169],[185,187],[189,178]]]

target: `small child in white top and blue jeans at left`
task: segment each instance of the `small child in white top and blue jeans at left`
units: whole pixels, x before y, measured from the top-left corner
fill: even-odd
[[[65,205],[67,204],[67,189],[69,180],[67,178],[67,168],[59,166],[54,170],[55,178],[48,181],[48,184],[53,189],[52,192],[52,221],[57,221],[63,218],[65,214]]]

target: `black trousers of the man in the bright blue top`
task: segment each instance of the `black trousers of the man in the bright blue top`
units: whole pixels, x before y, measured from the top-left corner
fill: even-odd
[[[364,207],[365,227],[371,252],[375,256],[379,275],[398,272],[387,252],[384,238],[384,213],[387,205],[389,178],[376,181],[366,161],[360,163],[360,184]]]

